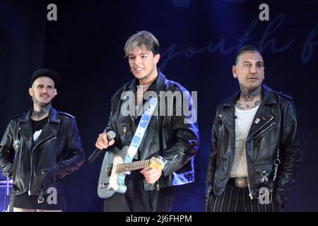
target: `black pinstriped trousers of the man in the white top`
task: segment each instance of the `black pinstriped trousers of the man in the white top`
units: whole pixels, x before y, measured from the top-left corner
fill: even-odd
[[[249,189],[240,189],[230,179],[220,196],[211,195],[208,201],[210,212],[280,212],[281,208],[273,200],[269,204],[259,203],[259,199],[249,198]]]

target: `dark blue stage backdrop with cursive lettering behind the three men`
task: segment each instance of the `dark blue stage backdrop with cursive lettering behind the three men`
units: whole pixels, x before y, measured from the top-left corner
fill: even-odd
[[[57,4],[57,21],[47,4]],[[259,4],[269,4],[269,21]],[[160,42],[159,68],[167,78],[198,91],[201,146],[196,182],[177,188],[174,211],[204,210],[204,180],[216,105],[237,90],[231,66],[244,44],[256,44],[266,67],[264,83],[292,95],[305,155],[285,206],[318,210],[317,1],[0,1],[0,133],[11,116],[32,102],[33,71],[59,71],[62,83],[54,107],[78,121],[86,155],[107,124],[110,98],[132,76],[124,43],[136,30]],[[102,157],[67,177],[70,211],[100,211],[96,189]]]

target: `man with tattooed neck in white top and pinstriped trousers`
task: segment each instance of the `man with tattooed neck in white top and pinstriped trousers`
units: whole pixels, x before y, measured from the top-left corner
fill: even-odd
[[[266,85],[259,50],[245,46],[240,90],[218,105],[206,178],[207,211],[281,211],[302,160],[293,98]]]

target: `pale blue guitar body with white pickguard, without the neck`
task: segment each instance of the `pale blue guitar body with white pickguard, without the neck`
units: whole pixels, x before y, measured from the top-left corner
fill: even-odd
[[[121,194],[126,192],[125,177],[130,172],[118,174],[116,169],[119,164],[124,163],[128,148],[128,146],[125,146],[122,150],[112,148],[112,150],[105,153],[98,180],[98,196],[100,198],[110,198],[115,192]]]

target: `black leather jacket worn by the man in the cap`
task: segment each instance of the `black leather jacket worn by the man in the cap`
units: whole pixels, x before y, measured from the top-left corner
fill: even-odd
[[[46,194],[48,187],[64,193],[60,182],[81,167],[85,153],[74,117],[53,107],[37,142],[33,144],[30,112],[14,117],[0,145],[3,174],[13,179],[16,195]]]

